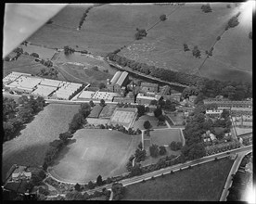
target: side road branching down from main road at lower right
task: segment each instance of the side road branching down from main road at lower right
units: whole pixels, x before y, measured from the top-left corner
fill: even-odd
[[[225,181],[225,185],[224,185],[224,190],[223,190],[223,193],[222,193],[222,196],[220,198],[220,201],[226,201],[226,197],[228,196],[228,189],[231,187],[233,181],[232,181],[232,174],[236,174],[239,166],[240,166],[240,163],[242,161],[242,159],[244,158],[245,155],[247,155],[248,153],[250,153],[252,150],[249,150],[249,151],[244,151],[244,152],[240,152],[238,153],[238,156],[237,156],[237,159],[235,160],[227,178],[226,178],[226,181]]]

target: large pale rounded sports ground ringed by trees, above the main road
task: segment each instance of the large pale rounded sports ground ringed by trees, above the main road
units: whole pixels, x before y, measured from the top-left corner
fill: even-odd
[[[59,180],[81,184],[95,181],[99,174],[104,178],[122,174],[138,138],[117,131],[79,130],[74,142],[60,152],[50,173]]]

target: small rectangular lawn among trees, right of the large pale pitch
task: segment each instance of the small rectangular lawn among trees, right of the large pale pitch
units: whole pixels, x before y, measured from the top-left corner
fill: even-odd
[[[183,142],[180,129],[154,130],[150,132],[150,139],[158,146],[170,145],[173,141]]]

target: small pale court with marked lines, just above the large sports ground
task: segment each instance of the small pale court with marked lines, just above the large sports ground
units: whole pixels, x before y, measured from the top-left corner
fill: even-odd
[[[116,108],[109,123],[113,125],[122,124],[129,128],[134,122],[136,111],[136,108]]]

